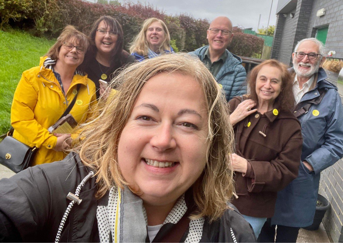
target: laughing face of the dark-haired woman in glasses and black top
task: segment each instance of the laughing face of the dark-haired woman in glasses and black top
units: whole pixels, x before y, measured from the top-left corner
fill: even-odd
[[[105,31],[112,31],[109,25],[107,25],[104,21],[101,21],[98,25],[97,29],[103,29]],[[114,51],[116,47],[118,36],[117,35],[110,35],[109,32],[106,34],[99,33],[98,31],[95,33],[95,46],[99,54],[108,55],[112,51]]]

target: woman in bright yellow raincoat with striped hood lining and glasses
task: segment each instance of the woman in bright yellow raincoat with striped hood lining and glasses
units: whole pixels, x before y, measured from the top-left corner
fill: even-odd
[[[23,72],[14,92],[11,108],[13,137],[37,147],[33,165],[62,160],[71,134],[50,133],[53,125],[76,96],[70,114],[85,122],[96,102],[95,85],[77,70],[88,48],[88,38],[73,26],[63,29],[39,66]]]

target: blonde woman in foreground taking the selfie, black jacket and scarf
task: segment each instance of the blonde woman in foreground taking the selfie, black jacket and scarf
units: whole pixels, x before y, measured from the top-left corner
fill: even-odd
[[[254,242],[228,205],[233,130],[203,63],[162,55],[113,82],[120,95],[81,127],[75,152],[0,180],[0,239]]]

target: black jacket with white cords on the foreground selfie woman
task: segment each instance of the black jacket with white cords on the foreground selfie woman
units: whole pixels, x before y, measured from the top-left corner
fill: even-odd
[[[28,168],[10,179],[0,180],[0,241],[54,242],[67,206],[66,196],[87,176],[77,154],[64,160]],[[96,220],[95,177],[82,187],[80,205],[75,204],[63,228],[60,242],[99,242]],[[201,242],[255,242],[252,229],[235,210],[221,219],[205,220]],[[187,233],[188,231],[186,231]]]

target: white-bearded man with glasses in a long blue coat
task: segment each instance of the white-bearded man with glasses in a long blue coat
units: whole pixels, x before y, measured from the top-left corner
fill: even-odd
[[[298,42],[292,53],[295,116],[303,148],[298,177],[278,192],[275,213],[264,224],[259,242],[296,242],[300,228],[313,223],[320,172],[343,156],[343,107],[338,88],[321,67],[324,45],[315,38]],[[291,95],[291,94],[290,94]]]

